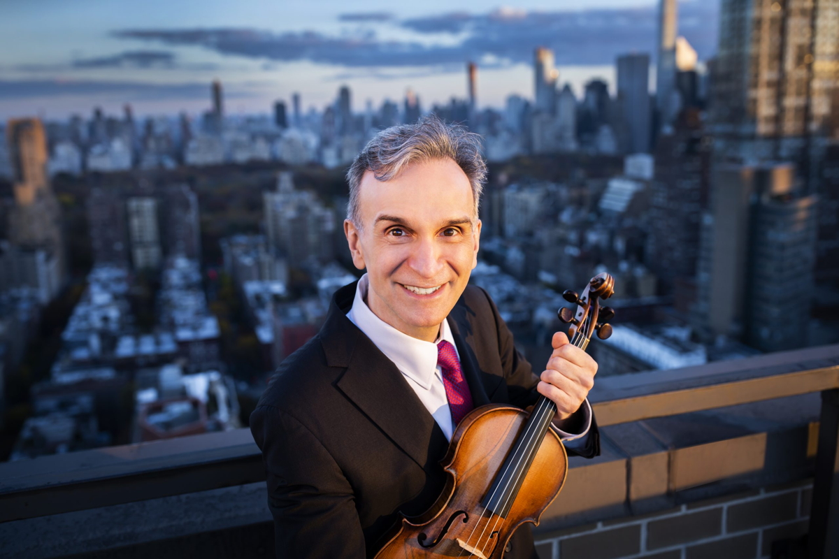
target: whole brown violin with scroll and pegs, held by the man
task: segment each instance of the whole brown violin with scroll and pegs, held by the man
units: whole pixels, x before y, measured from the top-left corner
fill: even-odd
[[[571,323],[571,344],[586,349],[591,335],[612,334],[612,308],[600,299],[614,293],[614,278],[592,277],[581,295],[565,291],[576,312],[557,315]],[[490,404],[470,411],[451,437],[440,462],[450,474],[442,494],[425,514],[403,518],[375,559],[478,557],[501,559],[513,532],[539,518],[560,493],[568,473],[568,455],[550,429],[556,405],[545,396],[532,411]]]

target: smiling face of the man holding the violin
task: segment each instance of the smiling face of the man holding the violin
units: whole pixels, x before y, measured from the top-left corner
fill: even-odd
[[[481,221],[466,173],[453,160],[413,163],[398,177],[364,173],[362,232],[344,231],[356,267],[367,267],[367,306],[414,338],[434,341],[477,264]]]

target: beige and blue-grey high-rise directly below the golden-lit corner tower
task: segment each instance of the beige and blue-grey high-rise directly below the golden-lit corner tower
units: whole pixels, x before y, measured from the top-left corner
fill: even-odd
[[[719,164],[702,218],[694,313],[707,340],[727,335],[764,351],[805,344],[815,258],[811,196],[788,164]]]

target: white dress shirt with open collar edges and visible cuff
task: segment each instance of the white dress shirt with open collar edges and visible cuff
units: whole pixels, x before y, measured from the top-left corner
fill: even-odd
[[[449,411],[448,398],[446,398],[446,387],[443,384],[442,372],[440,365],[437,365],[437,344],[440,343],[440,340],[445,339],[449,342],[457,353],[457,345],[451,335],[448,318],[440,324],[440,334],[438,334],[435,342],[413,338],[408,334],[399,332],[399,330],[373,314],[373,311],[367,307],[365,302],[367,287],[367,274],[364,274],[358,280],[356,297],[352,302],[352,308],[347,313],[347,318],[366,334],[367,338],[371,339],[373,344],[389,360],[393,361],[393,364],[408,381],[409,386],[420,398],[425,409],[434,417],[435,422],[440,426],[443,434],[446,435],[446,439],[451,441],[454,426],[451,422],[451,412]],[[460,359],[460,354],[457,355],[457,358]],[[588,403],[588,398],[583,402],[583,405],[586,414],[586,428],[583,432],[575,435],[559,429],[556,430],[566,446],[571,441],[576,442],[573,446],[581,446],[580,443],[585,442],[585,437],[591,428],[591,405]]]

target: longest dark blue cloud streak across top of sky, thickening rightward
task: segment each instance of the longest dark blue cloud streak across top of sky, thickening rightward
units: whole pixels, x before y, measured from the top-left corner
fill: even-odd
[[[378,14],[381,16],[382,14]],[[372,14],[344,14],[359,21]],[[349,17],[350,19],[346,19]],[[680,3],[680,34],[707,60],[717,44],[717,3]],[[315,31],[271,33],[253,28],[126,29],[117,37],[169,45],[199,45],[221,54],[268,61],[308,60],[319,64],[364,67],[440,67],[476,60],[496,64],[533,60],[537,46],[554,50],[558,65],[613,64],[619,54],[655,55],[656,8],[524,11],[503,8],[492,13],[444,13],[394,22],[429,40],[380,40],[373,34],[331,36]],[[435,34],[454,41],[435,44]]]

